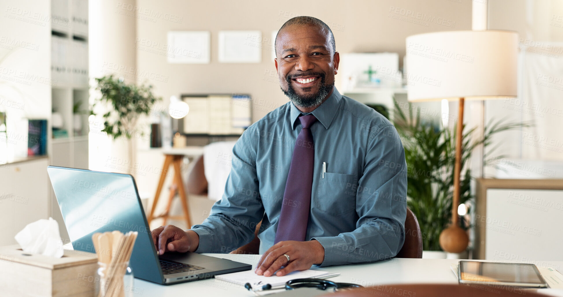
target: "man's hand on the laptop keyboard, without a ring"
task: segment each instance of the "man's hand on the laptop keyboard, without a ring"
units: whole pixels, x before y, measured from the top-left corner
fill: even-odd
[[[182,230],[173,225],[160,226],[150,232],[159,255],[167,251],[195,251],[199,246],[199,235],[192,230]]]

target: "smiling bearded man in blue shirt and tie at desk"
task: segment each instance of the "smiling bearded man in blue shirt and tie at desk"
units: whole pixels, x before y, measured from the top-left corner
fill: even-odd
[[[395,256],[406,218],[405,154],[395,127],[336,90],[340,57],[319,19],[288,20],[275,48],[290,102],[236,142],[225,194],[202,224],[153,230],[159,253],[229,252],[251,242],[262,221],[257,274]]]

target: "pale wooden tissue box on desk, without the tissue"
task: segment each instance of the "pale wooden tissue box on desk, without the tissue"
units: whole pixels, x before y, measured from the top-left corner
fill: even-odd
[[[62,258],[29,255],[19,245],[0,247],[0,295],[94,295],[96,254],[65,250]]]

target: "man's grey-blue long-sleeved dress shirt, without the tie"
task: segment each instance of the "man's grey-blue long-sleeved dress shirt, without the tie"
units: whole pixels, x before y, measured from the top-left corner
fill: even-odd
[[[235,250],[252,241],[261,220],[260,253],[274,245],[300,114],[288,102],[236,141],[222,199],[191,228],[199,235],[196,252]],[[311,126],[315,161],[306,238],[324,247],[320,266],[395,256],[406,218],[405,153],[395,127],[336,87],[312,114],[318,121]]]

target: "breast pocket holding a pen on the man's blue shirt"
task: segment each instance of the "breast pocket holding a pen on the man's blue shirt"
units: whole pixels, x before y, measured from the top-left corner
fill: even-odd
[[[319,179],[315,207],[332,216],[355,210],[357,183],[357,174],[324,172],[324,178]]]

